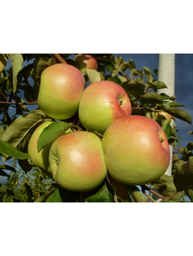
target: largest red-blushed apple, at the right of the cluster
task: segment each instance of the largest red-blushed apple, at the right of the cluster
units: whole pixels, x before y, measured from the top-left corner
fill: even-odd
[[[170,148],[161,126],[145,116],[124,116],[103,136],[103,150],[110,175],[126,185],[144,185],[164,175]]]

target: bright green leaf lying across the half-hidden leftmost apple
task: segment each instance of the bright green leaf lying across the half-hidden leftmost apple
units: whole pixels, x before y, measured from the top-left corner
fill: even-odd
[[[59,137],[63,136],[66,133],[70,133],[74,125],[73,123],[63,123],[62,121],[57,121],[51,123],[47,126],[39,136],[38,140],[38,151],[40,152],[46,145],[52,144]]]

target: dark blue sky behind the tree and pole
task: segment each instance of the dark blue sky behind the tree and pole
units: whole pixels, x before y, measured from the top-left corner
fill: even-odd
[[[154,74],[154,68],[158,68],[159,54],[115,54],[124,58],[124,61],[129,62],[133,60],[136,64],[137,70],[143,70],[143,67],[149,67]],[[74,56],[73,56],[74,57]],[[72,58],[73,58],[72,57]],[[26,61],[25,61],[26,64]],[[8,63],[6,68],[9,68]],[[125,72],[130,74],[130,70]],[[176,54],[175,55],[175,95],[176,101],[185,105],[185,110],[190,114],[193,119],[193,54]],[[28,106],[28,109],[36,109],[37,106]],[[10,111],[12,108],[10,108]],[[184,108],[183,108],[184,109]],[[15,112],[15,109],[13,109]],[[12,116],[12,114],[10,114]],[[188,135],[189,131],[193,131],[193,127],[179,119],[176,119],[177,129],[180,131],[178,135],[182,138],[181,147],[185,147],[188,142],[193,142],[193,136]],[[1,164],[1,163],[0,163]],[[8,164],[8,163],[5,163]],[[0,183],[2,177],[0,176]]]

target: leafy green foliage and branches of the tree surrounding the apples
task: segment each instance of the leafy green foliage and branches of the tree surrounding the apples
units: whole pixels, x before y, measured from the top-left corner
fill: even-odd
[[[148,192],[161,198],[161,202],[186,202],[187,196],[193,202],[193,143],[180,148],[178,127],[175,123],[174,126],[170,124],[171,116],[174,120],[177,118],[191,124],[191,116],[184,109],[178,109],[183,105],[176,101],[175,95],[170,97],[157,93],[157,89],[167,88],[164,82],[157,81],[158,71],[154,69],[153,72],[148,67],[137,70],[133,60],[125,62],[123,57],[113,54],[88,54],[92,56],[95,67],[80,68],[76,59],[73,61],[73,55],[78,54],[0,54],[0,175],[10,176],[8,182],[0,187],[1,202],[6,201],[5,196],[7,202],[154,202]],[[7,59],[12,64],[9,70],[5,70]],[[24,61],[27,64],[24,65]],[[42,123],[51,121],[54,124],[42,131],[37,143],[39,152],[66,133],[86,131],[78,112],[69,119],[59,120],[46,116],[39,109],[42,72],[59,63],[80,69],[85,87],[98,81],[112,81],[120,85],[130,99],[132,115],[146,116],[159,123],[168,144],[174,147],[174,155],[172,176],[163,175],[151,182],[157,192],[148,184],[124,185],[109,173],[97,189],[72,192],[63,189],[43,170],[33,166],[28,152],[29,140]],[[125,74],[127,70],[130,70],[130,75]],[[54,89],[49,93],[54,94]],[[103,140],[103,134],[97,130],[93,133]],[[10,159],[14,159],[14,166],[8,164]],[[5,171],[11,171],[11,174]],[[20,197],[15,191],[21,192]]]

